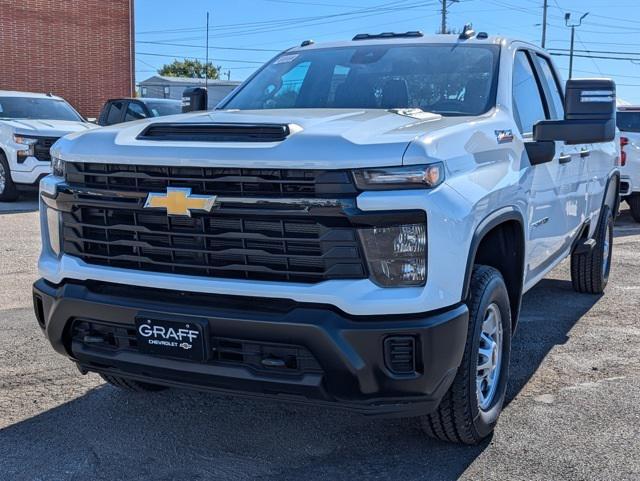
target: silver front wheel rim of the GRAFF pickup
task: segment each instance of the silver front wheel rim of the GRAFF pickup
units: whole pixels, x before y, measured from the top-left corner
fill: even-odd
[[[487,307],[480,332],[480,346],[476,368],[478,407],[491,407],[500,384],[502,367],[502,314],[496,303]]]

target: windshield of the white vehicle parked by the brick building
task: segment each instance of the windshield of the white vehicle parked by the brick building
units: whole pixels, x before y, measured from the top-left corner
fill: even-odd
[[[83,121],[64,100],[33,97],[0,97],[0,118]]]

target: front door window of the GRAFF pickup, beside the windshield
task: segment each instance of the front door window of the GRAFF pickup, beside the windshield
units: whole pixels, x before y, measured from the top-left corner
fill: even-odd
[[[547,118],[533,66],[523,50],[516,53],[513,65],[513,110],[523,135],[532,133],[533,125]]]

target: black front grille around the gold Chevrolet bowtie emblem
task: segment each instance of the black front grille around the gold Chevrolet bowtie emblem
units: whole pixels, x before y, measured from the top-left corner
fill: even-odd
[[[289,188],[316,195],[312,179],[322,175],[318,171],[268,171],[280,179],[269,183],[238,178],[265,178],[267,171],[235,169],[219,174],[233,177],[225,184],[209,176],[233,169],[105,165],[105,173],[132,176],[102,176],[95,173],[96,165],[67,164],[69,188],[75,193],[73,205],[62,214],[64,252],[89,264],[302,283],[368,277],[357,229],[341,207],[294,207],[284,200],[268,206],[233,202],[241,198],[237,194],[245,192],[248,183],[275,197]],[[342,174],[348,178],[346,172],[335,172],[332,178]],[[296,187],[291,187],[291,179]],[[102,189],[89,190],[98,186]],[[230,197],[210,214],[193,213],[192,217],[144,209],[145,192],[163,192],[166,186]]]

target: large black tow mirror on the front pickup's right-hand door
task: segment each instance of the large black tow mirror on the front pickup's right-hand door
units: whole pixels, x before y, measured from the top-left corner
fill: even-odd
[[[571,144],[610,142],[616,136],[616,84],[609,79],[567,81],[564,120],[533,126],[536,141]]]

